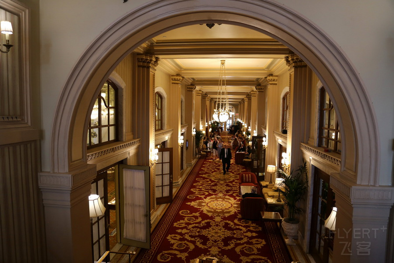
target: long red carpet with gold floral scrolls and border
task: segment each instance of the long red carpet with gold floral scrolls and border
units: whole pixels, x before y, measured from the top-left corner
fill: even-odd
[[[151,248],[134,262],[194,263],[215,257],[220,263],[292,262],[274,223],[241,219],[238,174],[231,160],[223,175],[221,161],[199,159],[161,222],[151,234]]]

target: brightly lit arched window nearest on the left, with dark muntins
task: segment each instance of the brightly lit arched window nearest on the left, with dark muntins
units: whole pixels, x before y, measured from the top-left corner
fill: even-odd
[[[88,148],[117,141],[117,125],[117,88],[107,80],[90,115]]]

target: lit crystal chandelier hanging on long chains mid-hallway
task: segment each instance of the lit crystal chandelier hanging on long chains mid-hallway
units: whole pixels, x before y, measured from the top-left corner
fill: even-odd
[[[219,122],[226,122],[230,118],[229,97],[226,87],[226,60],[220,61],[218,101],[216,101],[216,109],[213,111],[212,118]]]

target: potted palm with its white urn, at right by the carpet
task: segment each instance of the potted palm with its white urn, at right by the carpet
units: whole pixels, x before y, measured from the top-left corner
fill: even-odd
[[[286,175],[281,169],[277,171],[278,177],[282,178],[281,183],[275,191],[280,192],[283,196],[287,217],[282,221],[282,227],[288,236],[287,243],[294,244],[293,238],[298,235],[299,220],[296,215],[301,215],[304,211],[299,206],[299,201],[305,196],[308,191],[308,171],[306,162],[298,166],[296,174],[293,171],[290,175]]]

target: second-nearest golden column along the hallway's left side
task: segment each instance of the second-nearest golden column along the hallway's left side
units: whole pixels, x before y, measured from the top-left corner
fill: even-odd
[[[174,132],[172,133],[172,140],[168,141],[169,147],[173,149],[172,156],[172,179],[173,183],[176,184],[179,181],[179,175],[181,170],[181,148],[179,146],[179,138],[181,136],[181,84],[183,76],[172,75],[170,92],[171,96],[168,96],[168,125]],[[186,139],[184,138],[184,141]],[[185,144],[182,146],[184,148]]]

